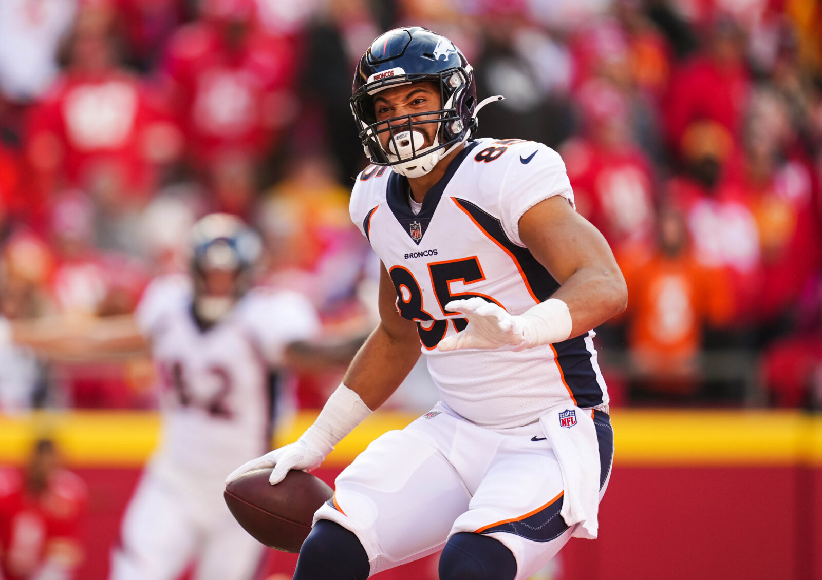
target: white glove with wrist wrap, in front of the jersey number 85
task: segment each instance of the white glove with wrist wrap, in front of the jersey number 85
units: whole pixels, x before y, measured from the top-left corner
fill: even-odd
[[[468,319],[460,333],[443,338],[441,351],[465,348],[521,351],[542,344],[557,343],[570,336],[571,320],[568,305],[550,298],[532,306],[521,315],[512,315],[505,308],[473,297],[446,304],[446,310],[457,311]]]

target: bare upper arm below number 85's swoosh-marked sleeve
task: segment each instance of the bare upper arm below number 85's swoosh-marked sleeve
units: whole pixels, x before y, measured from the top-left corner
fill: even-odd
[[[564,197],[549,197],[526,211],[520,239],[560,284],[586,268],[622,278],[603,234]]]

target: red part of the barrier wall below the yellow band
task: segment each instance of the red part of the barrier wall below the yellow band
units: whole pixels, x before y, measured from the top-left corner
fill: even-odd
[[[90,487],[88,558],[104,580],[135,469],[76,470]],[[328,483],[339,470],[319,470]],[[562,580],[822,580],[822,470],[797,467],[615,467],[596,541],[571,540]],[[816,534],[816,535],[815,535]],[[296,556],[271,552],[266,576],[291,578]],[[435,580],[436,557],[379,580]],[[279,579],[278,579],[279,580]]]

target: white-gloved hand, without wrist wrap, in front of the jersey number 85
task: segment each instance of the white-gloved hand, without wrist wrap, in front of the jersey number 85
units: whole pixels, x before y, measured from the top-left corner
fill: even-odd
[[[524,348],[525,334],[520,316],[511,315],[505,308],[480,297],[454,300],[446,304],[446,310],[462,313],[468,326],[448,338],[443,338],[437,348],[455,351],[464,348]]]

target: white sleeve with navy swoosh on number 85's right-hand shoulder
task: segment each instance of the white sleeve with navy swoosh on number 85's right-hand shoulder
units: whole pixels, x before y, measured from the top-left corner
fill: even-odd
[[[522,157],[528,159],[527,150],[512,157],[500,189],[502,228],[510,241],[518,246],[524,246],[520,240],[520,218],[540,201],[562,196],[576,208],[574,191],[560,154],[542,143],[533,145],[537,149],[528,163],[521,160]]]

